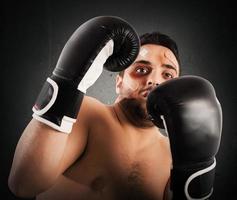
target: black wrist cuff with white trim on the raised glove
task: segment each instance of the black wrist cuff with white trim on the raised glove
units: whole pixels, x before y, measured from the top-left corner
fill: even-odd
[[[36,100],[33,117],[56,130],[70,133],[83,96],[70,81],[51,76]]]

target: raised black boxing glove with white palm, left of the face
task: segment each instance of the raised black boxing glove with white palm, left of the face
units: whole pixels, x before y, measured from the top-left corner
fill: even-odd
[[[139,37],[124,20],[95,17],[82,24],[64,46],[52,75],[33,107],[33,117],[70,133],[86,90],[103,66],[110,71],[128,67],[139,52]]]

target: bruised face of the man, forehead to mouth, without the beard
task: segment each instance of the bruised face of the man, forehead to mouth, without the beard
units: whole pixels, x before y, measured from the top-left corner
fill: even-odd
[[[135,62],[117,76],[116,92],[123,98],[146,99],[157,84],[179,76],[179,64],[164,46],[143,45]]]

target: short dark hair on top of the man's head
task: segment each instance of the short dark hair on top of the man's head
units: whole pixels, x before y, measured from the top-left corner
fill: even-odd
[[[170,49],[175,55],[180,66],[178,46],[176,42],[168,35],[165,35],[160,32],[145,33],[140,36],[140,42],[141,46],[146,44],[156,44]],[[124,71],[120,72],[119,75],[123,76],[123,72]]]

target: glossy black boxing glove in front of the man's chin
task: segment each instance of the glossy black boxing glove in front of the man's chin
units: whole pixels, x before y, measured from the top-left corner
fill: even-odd
[[[210,82],[183,76],[160,84],[147,99],[151,119],[163,119],[172,153],[173,200],[207,199],[213,191],[222,110]]]

